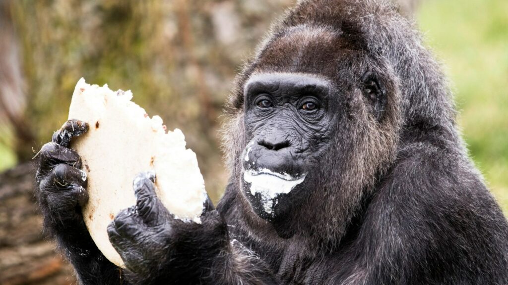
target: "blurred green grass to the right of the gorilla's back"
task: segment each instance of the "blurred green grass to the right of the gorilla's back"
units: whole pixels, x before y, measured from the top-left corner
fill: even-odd
[[[470,156],[508,214],[508,1],[425,0],[416,17],[454,86]]]

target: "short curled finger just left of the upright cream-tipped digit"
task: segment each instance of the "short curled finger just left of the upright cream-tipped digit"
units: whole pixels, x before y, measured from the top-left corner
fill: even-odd
[[[143,222],[136,214],[136,206],[119,211],[110,226],[124,238],[135,239],[145,230]],[[109,227],[109,226],[108,226]]]

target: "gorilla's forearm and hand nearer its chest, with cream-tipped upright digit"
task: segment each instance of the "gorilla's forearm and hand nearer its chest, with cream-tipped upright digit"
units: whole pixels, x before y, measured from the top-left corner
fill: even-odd
[[[155,195],[154,175],[134,180],[137,203],[116,215],[108,235],[139,284],[278,284],[208,201],[201,224],[175,219]]]

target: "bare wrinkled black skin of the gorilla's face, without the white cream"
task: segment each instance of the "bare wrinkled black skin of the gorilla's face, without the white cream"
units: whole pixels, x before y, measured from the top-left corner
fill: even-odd
[[[246,136],[249,143],[243,154],[244,171],[269,169],[304,182],[288,194],[273,199],[272,211],[263,207],[262,196],[251,194],[244,181],[245,197],[263,219],[283,221],[314,180],[320,151],[328,147],[333,133],[336,105],[333,86],[307,75],[262,74],[245,85]]]

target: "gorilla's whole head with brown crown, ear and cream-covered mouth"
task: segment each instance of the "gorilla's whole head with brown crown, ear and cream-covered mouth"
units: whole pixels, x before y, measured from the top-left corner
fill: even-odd
[[[333,242],[394,160],[399,87],[358,25],[300,13],[237,78],[226,153],[248,221]]]

